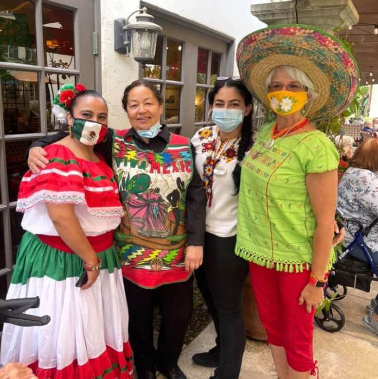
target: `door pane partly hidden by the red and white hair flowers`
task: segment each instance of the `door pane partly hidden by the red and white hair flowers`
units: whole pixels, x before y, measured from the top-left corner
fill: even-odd
[[[76,84],[74,75],[58,75],[54,73],[46,73],[45,76],[45,90],[46,90],[46,112],[47,112],[47,131],[57,131],[66,129],[66,124],[60,123],[54,113],[51,111],[54,97],[59,88],[63,84]]]

